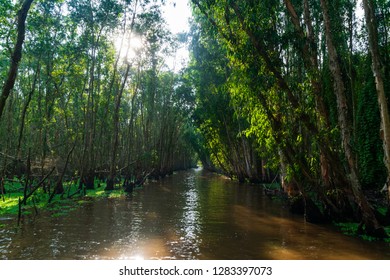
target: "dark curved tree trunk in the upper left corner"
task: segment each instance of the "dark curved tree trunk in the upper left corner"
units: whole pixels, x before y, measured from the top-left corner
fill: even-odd
[[[18,73],[19,62],[22,59],[23,42],[26,32],[27,13],[31,7],[33,0],[26,0],[18,11],[17,32],[18,36],[16,44],[11,55],[11,65],[8,71],[7,80],[4,83],[3,90],[0,96],[0,119],[4,111],[5,102],[14,88],[16,76]]]

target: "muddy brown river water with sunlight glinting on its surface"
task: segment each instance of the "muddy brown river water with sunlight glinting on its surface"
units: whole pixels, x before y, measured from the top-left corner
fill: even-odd
[[[305,223],[260,187],[191,170],[0,228],[0,259],[390,259],[390,245]]]

